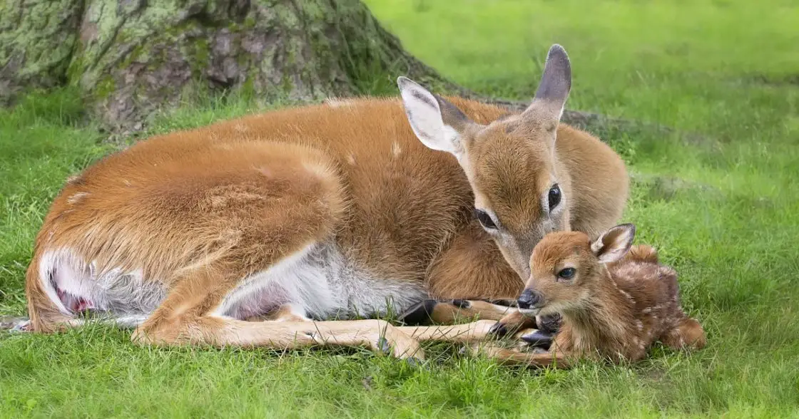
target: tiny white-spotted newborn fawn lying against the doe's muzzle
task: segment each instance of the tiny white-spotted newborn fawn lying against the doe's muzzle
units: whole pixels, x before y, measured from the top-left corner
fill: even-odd
[[[535,247],[519,313],[558,313],[562,325],[545,354],[483,347],[508,362],[569,366],[578,358],[638,361],[657,341],[676,350],[705,346],[705,331],[680,306],[677,273],[654,248],[631,247],[635,227],[622,224],[592,242],[579,231],[550,233]],[[500,321],[516,322],[509,314]],[[539,332],[529,338],[536,344]]]

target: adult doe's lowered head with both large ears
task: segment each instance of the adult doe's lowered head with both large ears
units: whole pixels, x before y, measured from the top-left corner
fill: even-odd
[[[475,216],[507,262],[529,276],[535,244],[569,229],[555,164],[555,136],[571,87],[569,57],[552,45],[531,105],[489,125],[405,77],[397,80],[411,128],[428,148],[454,155],[475,194]]]

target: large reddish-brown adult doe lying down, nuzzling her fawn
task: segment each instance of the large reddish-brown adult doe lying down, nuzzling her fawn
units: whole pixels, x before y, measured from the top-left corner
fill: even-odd
[[[26,276],[30,325],[78,326],[89,311],[142,343],[418,357],[387,322],[312,320],[515,298],[547,232],[613,225],[626,170],[559,124],[570,83],[555,45],[523,113],[400,77],[401,102],[284,109],[107,156],[46,215]]]

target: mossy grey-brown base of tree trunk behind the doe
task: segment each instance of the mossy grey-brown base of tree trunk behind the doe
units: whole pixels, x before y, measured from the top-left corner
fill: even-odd
[[[359,0],[0,0],[0,15],[0,95],[74,84],[116,132],[223,90],[262,101],[393,93],[399,73],[455,89]]]

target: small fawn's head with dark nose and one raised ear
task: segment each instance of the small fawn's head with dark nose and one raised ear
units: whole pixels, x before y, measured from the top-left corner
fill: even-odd
[[[529,316],[579,309],[609,278],[604,263],[622,259],[633,244],[635,226],[610,228],[591,243],[582,231],[559,231],[539,242],[530,258],[530,278],[519,296]]]

